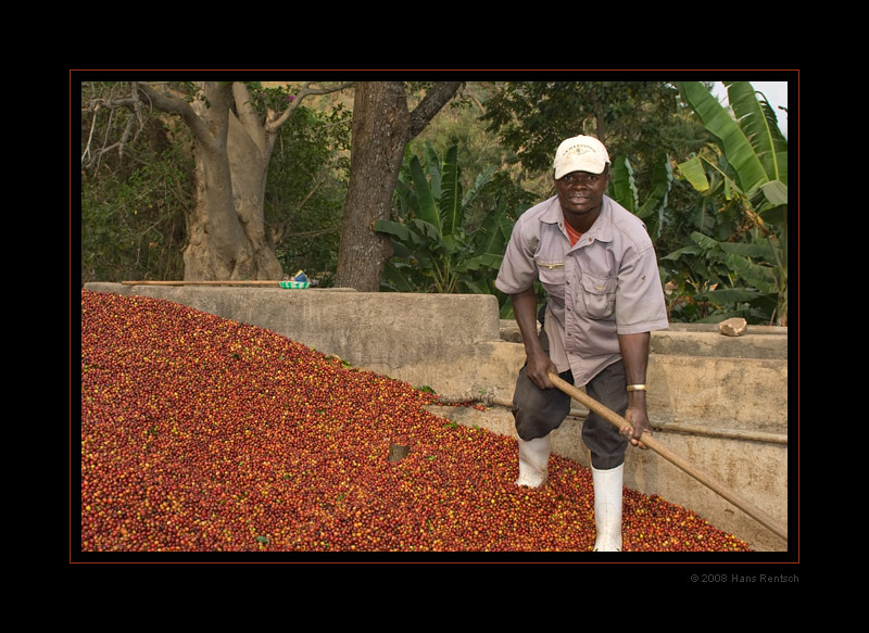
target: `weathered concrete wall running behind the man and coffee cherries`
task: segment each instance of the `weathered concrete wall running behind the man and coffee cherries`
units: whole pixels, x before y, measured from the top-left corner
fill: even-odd
[[[175,301],[249,322],[351,365],[427,385],[439,394],[480,397],[487,412],[438,407],[440,415],[515,436],[507,406],[524,346],[500,321],[494,296],[361,293],[88,283],[86,289]],[[788,519],[786,328],[752,327],[728,338],[714,326],[655,332],[648,406],[656,436],[751,503]],[[553,450],[588,466],[579,405],[554,432]],[[626,485],[689,507],[755,549],[786,543],[742,510],[648,451],[630,450]]]

